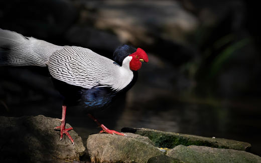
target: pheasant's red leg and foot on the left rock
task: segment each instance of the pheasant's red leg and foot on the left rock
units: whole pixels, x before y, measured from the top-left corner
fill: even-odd
[[[74,144],[74,141],[71,137],[71,135],[68,133],[68,131],[70,131],[71,129],[73,129],[72,127],[71,128],[65,128],[65,114],[66,114],[66,106],[63,105],[62,106],[62,119],[59,119],[61,121],[61,125],[60,126],[57,126],[57,127],[54,127],[54,129],[60,129],[60,140],[62,140],[63,138],[63,134],[66,134],[68,136],[68,138],[71,140],[72,144]]]

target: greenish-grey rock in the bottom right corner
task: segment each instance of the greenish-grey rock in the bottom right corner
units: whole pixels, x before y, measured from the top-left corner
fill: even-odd
[[[167,155],[185,162],[261,162],[261,157],[246,151],[196,145],[178,145]]]

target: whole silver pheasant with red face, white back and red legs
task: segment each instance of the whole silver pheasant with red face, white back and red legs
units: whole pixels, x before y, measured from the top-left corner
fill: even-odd
[[[65,128],[68,106],[82,107],[99,127],[100,133],[123,133],[110,130],[92,116],[92,112],[108,107],[121,92],[129,90],[137,81],[142,62],[149,62],[141,48],[121,45],[113,53],[112,60],[77,46],[58,46],[33,37],[0,29],[0,66],[47,67],[55,88],[64,97],[62,104],[60,140],[67,135]]]

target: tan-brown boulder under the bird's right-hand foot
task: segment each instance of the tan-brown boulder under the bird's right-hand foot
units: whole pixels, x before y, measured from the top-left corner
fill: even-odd
[[[87,148],[92,162],[147,162],[149,158],[162,155],[148,138],[133,133],[126,136],[92,134]]]

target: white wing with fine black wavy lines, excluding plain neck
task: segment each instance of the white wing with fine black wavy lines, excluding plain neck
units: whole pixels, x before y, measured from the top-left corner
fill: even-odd
[[[48,63],[52,77],[87,89],[106,86],[104,81],[113,76],[113,67],[115,63],[112,60],[90,49],[74,46],[65,46],[54,52]]]

